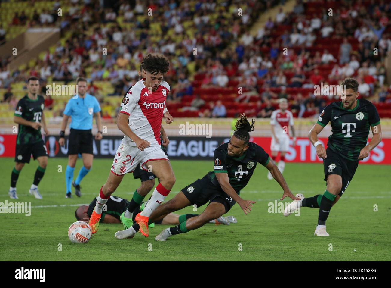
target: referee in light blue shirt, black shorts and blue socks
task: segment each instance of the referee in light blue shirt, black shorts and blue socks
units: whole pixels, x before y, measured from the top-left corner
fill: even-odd
[[[70,124],[70,134],[68,137],[68,166],[65,172],[66,181],[66,198],[72,197],[71,185],[75,187],[76,196],[80,197],[80,182],[84,176],[91,170],[93,159],[92,148],[92,117],[95,115],[98,133],[95,135],[95,140],[102,139],[102,127],[100,122],[100,106],[98,100],[86,93],[87,80],[85,78],[77,78],[76,80],[78,94],[72,97],[66,104],[61,123],[61,132],[59,144],[65,144],[65,129],[69,117],[72,117]],[[74,170],[77,160],[77,155],[81,154],[83,158],[83,167],[79,171],[76,180],[73,181]]]

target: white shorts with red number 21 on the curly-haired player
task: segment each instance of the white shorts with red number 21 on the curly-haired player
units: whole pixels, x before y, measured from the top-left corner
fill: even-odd
[[[148,171],[145,163],[150,160],[168,160],[160,145],[152,145],[141,151],[137,146],[126,146],[121,143],[114,157],[111,172],[115,175],[124,175],[125,173],[133,172],[138,165]]]

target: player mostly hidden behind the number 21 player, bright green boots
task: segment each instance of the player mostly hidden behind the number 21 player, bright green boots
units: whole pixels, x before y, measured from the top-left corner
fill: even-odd
[[[146,76],[144,75],[145,70],[143,69],[142,65],[140,65],[140,70],[138,71],[138,76]],[[140,78],[140,80],[143,77]],[[128,89],[128,91],[131,89],[131,87]],[[121,107],[124,105],[124,102],[126,100],[127,94],[125,94],[124,98],[122,99]],[[119,117],[119,113],[118,113]],[[117,117],[117,121],[118,121]],[[169,138],[163,128],[163,125],[160,129],[160,136],[161,136],[161,149],[164,151],[164,154],[168,157],[166,147],[169,145],[170,141]],[[133,220],[136,214],[138,214],[140,211],[135,213],[135,210],[137,207],[140,206],[142,201],[144,200],[145,196],[152,190],[152,188],[155,186],[155,178],[156,176],[149,171],[145,171],[144,169],[140,168],[140,165],[136,167],[136,169],[133,171],[133,177],[135,179],[140,179],[141,185],[138,187],[135,192],[133,192],[132,200],[130,201],[129,205],[127,206],[126,211],[124,212],[124,215],[122,216],[122,223],[124,224],[124,229],[129,228],[133,225]],[[91,211],[92,213],[92,211]],[[152,224],[151,224],[152,225]],[[151,226],[149,225],[149,226]]]

